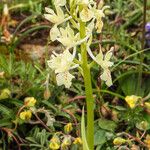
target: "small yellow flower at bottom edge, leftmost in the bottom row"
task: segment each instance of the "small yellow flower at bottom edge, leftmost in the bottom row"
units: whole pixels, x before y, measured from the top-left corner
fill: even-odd
[[[49,148],[52,150],[60,148],[60,140],[56,135],[50,140]]]

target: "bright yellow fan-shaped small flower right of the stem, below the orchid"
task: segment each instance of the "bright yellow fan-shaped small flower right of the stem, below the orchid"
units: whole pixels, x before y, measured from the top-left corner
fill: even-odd
[[[125,97],[125,101],[126,101],[127,104],[129,105],[129,107],[130,107],[131,109],[133,109],[133,108],[136,106],[136,104],[137,104],[139,98],[140,98],[140,97],[139,97],[139,96],[136,96],[136,95],[126,96],[126,97]]]

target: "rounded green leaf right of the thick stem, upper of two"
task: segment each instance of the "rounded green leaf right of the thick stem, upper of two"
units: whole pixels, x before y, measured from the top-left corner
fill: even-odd
[[[100,119],[98,125],[100,128],[111,132],[114,132],[115,128],[117,127],[117,124],[114,121],[106,119]]]

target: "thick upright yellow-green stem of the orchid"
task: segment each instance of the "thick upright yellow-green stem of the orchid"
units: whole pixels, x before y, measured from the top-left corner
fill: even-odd
[[[85,36],[85,23],[80,22],[80,37],[83,39]],[[87,106],[87,142],[89,149],[94,150],[94,98],[85,42],[81,44],[81,57]]]

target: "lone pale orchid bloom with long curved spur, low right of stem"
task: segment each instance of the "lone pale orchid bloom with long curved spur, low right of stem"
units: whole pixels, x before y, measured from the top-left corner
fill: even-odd
[[[91,58],[97,64],[99,64],[103,69],[103,73],[100,76],[101,80],[105,81],[106,85],[110,87],[112,85],[112,79],[111,79],[111,73],[110,73],[109,67],[111,67],[113,65],[113,62],[110,62],[110,58],[112,57],[113,48],[111,48],[105,55],[103,55],[101,48],[100,48],[100,52],[96,57],[93,55],[89,46],[87,47],[87,50],[88,50],[88,53],[91,56]]]

